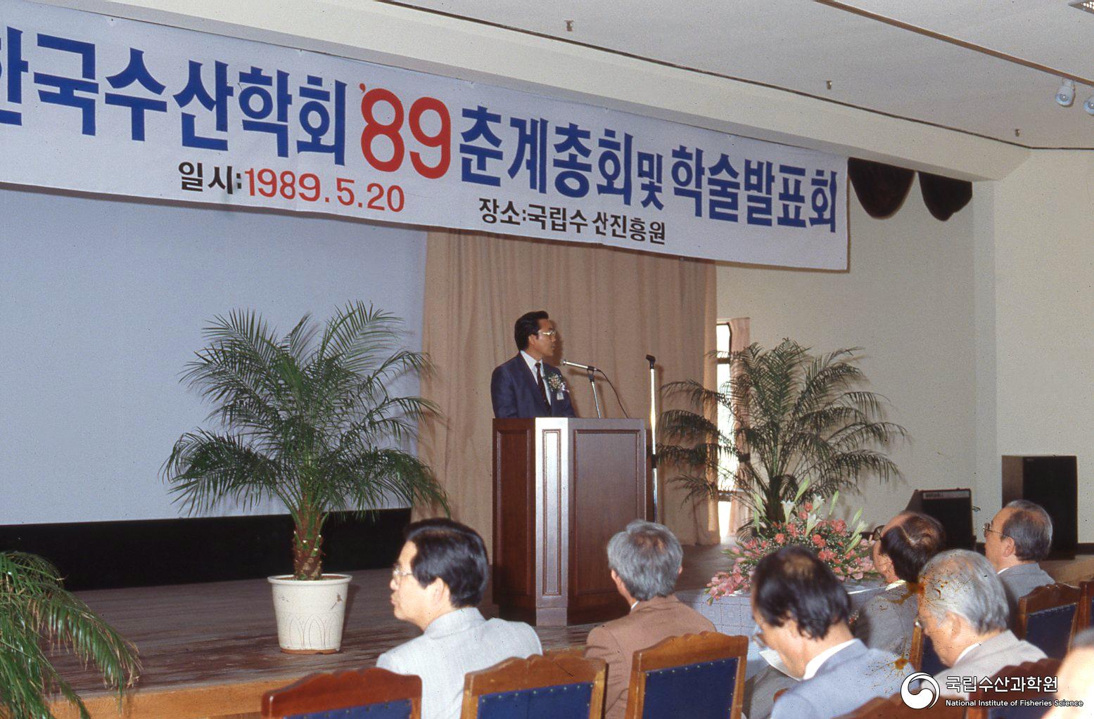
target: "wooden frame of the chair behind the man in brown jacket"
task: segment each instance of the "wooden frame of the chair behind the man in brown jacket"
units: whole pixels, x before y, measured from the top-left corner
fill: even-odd
[[[748,638],[731,637],[718,632],[668,637],[648,649],[636,651],[631,661],[630,685],[627,687],[625,719],[640,719],[642,716],[645,708],[647,672],[731,657],[736,657],[740,661],[737,662],[737,675],[734,680],[733,707],[730,710],[729,719],[741,719],[741,710],[745,702],[745,662],[748,658]]]

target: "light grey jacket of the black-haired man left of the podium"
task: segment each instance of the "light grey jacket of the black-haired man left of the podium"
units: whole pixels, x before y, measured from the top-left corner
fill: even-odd
[[[542,651],[527,624],[488,622],[468,606],[439,616],[420,637],[380,655],[376,667],[421,677],[421,719],[459,719],[464,674]]]

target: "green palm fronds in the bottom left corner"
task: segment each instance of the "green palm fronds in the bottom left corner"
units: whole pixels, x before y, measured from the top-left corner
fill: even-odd
[[[106,685],[117,691],[119,703],[140,671],[137,648],[66,591],[49,562],[0,552],[0,717],[53,719],[50,698],[59,694],[81,719],[90,719],[46,647],[63,647],[84,663],[94,663]]]

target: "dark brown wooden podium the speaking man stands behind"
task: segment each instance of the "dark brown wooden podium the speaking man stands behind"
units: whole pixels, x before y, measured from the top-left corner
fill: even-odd
[[[647,516],[642,420],[493,421],[493,601],[539,626],[627,613],[607,542]]]

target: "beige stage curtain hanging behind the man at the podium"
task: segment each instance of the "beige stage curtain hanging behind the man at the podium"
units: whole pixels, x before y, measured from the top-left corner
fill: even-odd
[[[714,266],[595,245],[557,244],[438,231],[429,234],[422,347],[434,372],[421,393],[443,421],[422,426],[421,456],[449,493],[453,518],[490,546],[490,373],[516,354],[513,322],[546,309],[559,331],[559,356],[608,374],[632,417],[649,417],[649,364],[660,382],[703,378],[713,384]],[[596,416],[583,373],[562,370],[579,416]],[[621,417],[600,380],[605,416]],[[662,408],[664,409],[664,408]],[[664,476],[661,478],[662,482]],[[713,503],[662,493],[662,519],[685,544],[718,542]]]

